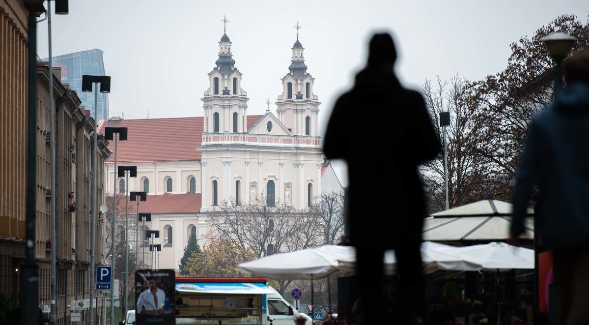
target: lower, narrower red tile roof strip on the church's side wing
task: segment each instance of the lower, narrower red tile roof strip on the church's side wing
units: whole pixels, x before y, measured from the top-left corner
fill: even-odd
[[[201,195],[197,193],[148,195],[147,201],[139,202],[139,212],[152,214],[197,214],[200,213]],[[137,214],[137,202],[129,202],[129,213]]]

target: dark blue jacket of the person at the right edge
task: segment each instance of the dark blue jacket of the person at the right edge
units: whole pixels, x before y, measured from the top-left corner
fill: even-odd
[[[518,170],[511,234],[524,232],[532,186],[546,248],[589,247],[589,84],[570,84],[528,126]]]

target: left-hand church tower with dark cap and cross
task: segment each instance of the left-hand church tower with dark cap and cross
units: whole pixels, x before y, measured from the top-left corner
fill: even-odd
[[[203,133],[241,133],[247,132],[244,121],[247,120],[247,92],[241,89],[243,74],[237,70],[231,41],[227,36],[226,16],[223,22],[223,36],[219,41],[219,58],[216,67],[209,73],[210,86],[204,92],[204,132]],[[208,138],[207,138],[208,139]],[[206,142],[203,137],[203,143]]]

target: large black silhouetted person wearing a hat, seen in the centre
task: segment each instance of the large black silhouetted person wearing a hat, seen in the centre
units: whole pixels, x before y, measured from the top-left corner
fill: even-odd
[[[420,93],[395,75],[389,33],[372,35],[368,63],[333,107],[323,151],[348,166],[350,242],[362,324],[391,323],[383,295],[383,255],[395,249],[398,324],[415,324],[423,303],[421,242],[426,216],[418,165],[442,146]],[[392,224],[392,226],[384,226]]]

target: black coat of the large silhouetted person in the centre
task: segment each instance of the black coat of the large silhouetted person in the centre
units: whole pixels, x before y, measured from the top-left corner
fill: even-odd
[[[441,152],[421,94],[369,65],[333,107],[323,151],[348,164],[352,245],[421,242],[426,209],[417,166]]]

